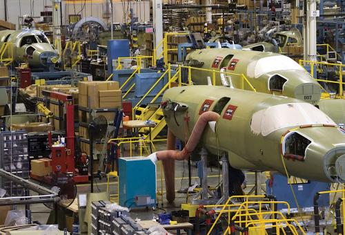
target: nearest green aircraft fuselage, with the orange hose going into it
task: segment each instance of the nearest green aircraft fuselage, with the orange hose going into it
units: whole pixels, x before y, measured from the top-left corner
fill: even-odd
[[[292,176],[345,182],[345,132],[311,104],[222,86],[182,86],[168,89],[162,105],[168,128],[181,140],[201,113],[219,113],[215,132],[206,126],[200,144],[215,155],[226,151],[237,169],[285,173],[283,158]]]

